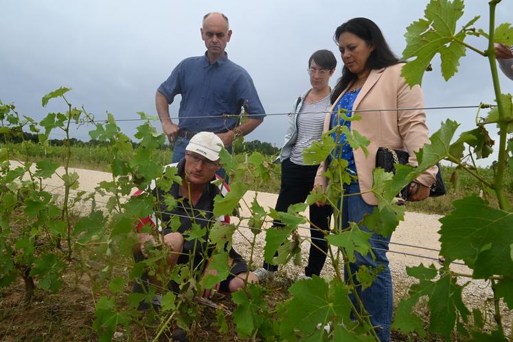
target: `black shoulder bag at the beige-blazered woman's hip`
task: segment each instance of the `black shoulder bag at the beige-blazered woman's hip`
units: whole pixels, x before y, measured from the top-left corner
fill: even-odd
[[[407,151],[401,151],[400,149],[391,149],[389,147],[378,147],[378,153],[376,153],[376,167],[382,167],[387,172],[396,173],[394,164],[407,164],[409,154]],[[442,168],[440,163],[437,163],[438,172],[436,174],[436,180],[431,185],[431,191],[429,197],[438,197],[447,193],[447,188],[442,180]],[[411,184],[411,183],[410,183]],[[409,195],[410,184],[404,186],[398,197],[406,201]]]

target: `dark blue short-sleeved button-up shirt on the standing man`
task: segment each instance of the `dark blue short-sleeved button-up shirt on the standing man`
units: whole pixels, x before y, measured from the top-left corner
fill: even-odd
[[[249,73],[227,56],[214,64],[210,64],[207,53],[186,58],[174,68],[158,90],[168,99],[168,103],[181,94],[178,112],[181,130],[226,132],[237,125],[238,119],[221,116],[240,114],[242,106],[252,114],[251,118],[265,116]]]

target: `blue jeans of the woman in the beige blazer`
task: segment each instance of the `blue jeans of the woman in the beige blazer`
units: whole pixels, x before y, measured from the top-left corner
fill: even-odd
[[[352,193],[359,193],[360,186],[358,182],[353,182],[345,186],[345,195]],[[363,219],[363,215],[372,214],[374,206],[366,204],[361,195],[345,196],[343,197],[343,210],[342,210],[342,226],[347,228],[349,222],[358,223]],[[361,226],[361,230],[365,232],[372,232],[366,226]],[[358,268],[365,265],[369,269],[382,267],[371,286],[361,291],[361,286],[357,287],[358,296],[361,298],[365,310],[371,315],[370,320],[373,326],[377,327],[376,332],[380,341],[390,341],[390,324],[392,320],[392,311],[394,310],[394,289],[392,287],[392,277],[389,268],[389,261],[387,258],[387,251],[390,237],[385,238],[380,234],[373,232],[371,240],[376,259],[373,259],[370,254],[363,256],[355,252],[356,262],[349,265],[351,273],[353,274],[354,284],[359,284],[356,280],[356,271]],[[345,281],[347,282],[349,276],[347,269],[344,268]],[[350,295],[350,299],[354,306],[358,308],[354,296]]]

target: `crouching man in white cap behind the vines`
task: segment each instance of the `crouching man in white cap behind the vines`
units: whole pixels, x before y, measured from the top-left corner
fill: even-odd
[[[194,270],[203,270],[203,274],[215,273],[214,269],[209,269],[205,260],[205,256],[209,254],[208,232],[214,221],[229,223],[229,217],[214,218],[213,215],[214,197],[219,194],[225,195],[228,191],[226,184],[218,186],[212,182],[219,178],[216,171],[221,167],[219,154],[222,147],[223,141],[212,132],[200,132],[194,135],[185,148],[185,158],[178,163],[168,165],[178,169],[181,184],[173,182],[167,192],[156,187],[152,190],[152,194],[157,199],[157,211],[163,223],[163,229],[159,229],[161,232],[158,234],[160,243],[171,250],[166,257],[165,267],[172,269],[176,265],[192,262]],[[140,193],[141,191],[138,191],[135,195]],[[176,200],[176,206],[171,210],[168,210],[168,204],[166,204],[168,202],[166,197],[170,197],[169,195]],[[178,230],[175,228],[173,231],[172,225],[176,226],[178,222]],[[155,228],[155,222],[150,217],[140,219],[137,225],[139,243],[134,247],[136,261],[148,257],[148,251],[146,251],[148,246],[158,245],[154,235],[139,232],[144,225],[148,224]],[[193,225],[196,230],[200,228],[205,232],[202,239],[187,239],[194,228]],[[229,250],[229,260],[231,263],[229,276],[216,284],[213,289],[231,293],[244,286],[246,280],[258,282],[255,274],[248,270],[247,262],[233,248]],[[156,282],[151,277],[148,277],[148,280]],[[209,297],[213,292],[205,290],[203,297]]]

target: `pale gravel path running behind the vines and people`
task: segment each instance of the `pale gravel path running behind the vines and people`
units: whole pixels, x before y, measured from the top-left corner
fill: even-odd
[[[13,166],[15,165],[16,162],[13,162]],[[98,186],[100,182],[110,182],[112,180],[111,173],[70,168],[70,172],[74,171],[79,175],[80,184],[77,191],[82,190],[95,193],[95,187]],[[58,169],[57,173],[62,174],[63,169]],[[63,193],[62,180],[58,177],[45,180],[43,183],[47,186],[48,191],[60,194]],[[71,195],[73,196],[77,191],[72,191]],[[244,202],[251,204],[254,196],[255,193],[253,191],[248,191],[244,196],[244,201],[241,201],[242,217],[247,216],[249,213]],[[106,203],[108,197],[97,194],[95,195],[95,199],[97,203],[101,205]],[[259,204],[264,208],[273,208],[276,203],[277,195],[271,193],[258,193],[257,199]],[[305,215],[308,215],[308,209],[306,210]],[[440,236],[437,231],[440,230],[441,225],[440,221],[438,221],[439,219],[439,215],[407,212],[404,221],[399,224],[396,232],[392,235],[389,246],[390,250],[387,255],[390,260],[396,300],[404,297],[407,294],[409,284],[414,282],[413,278],[407,276],[406,267],[420,265],[421,262],[426,266],[431,265],[432,263],[438,265],[436,260],[438,258],[437,250],[440,249],[440,242],[438,241]],[[241,225],[244,225],[244,222],[242,222]],[[267,224],[267,227],[269,227],[269,225],[270,223]],[[310,235],[306,228],[300,229],[299,232],[301,236],[308,237]],[[238,252],[247,259],[249,259],[250,254],[248,240],[251,241],[251,239],[253,239],[253,233],[247,228],[240,228],[240,230],[238,230],[234,235],[233,239],[234,247],[236,247]],[[263,232],[258,234],[256,237],[255,252],[253,256],[253,260],[255,262],[254,267],[260,267],[262,264],[262,254],[265,244],[264,239],[265,234]],[[302,267],[295,266],[292,262],[289,262],[288,265],[285,265],[280,269],[277,276],[294,280],[297,276],[301,275],[304,272],[303,267],[308,260],[309,246],[309,242],[305,239],[301,246],[303,261]],[[453,264],[451,265],[451,269],[460,273],[470,273],[470,270],[467,267],[461,265]],[[333,275],[334,269],[330,260],[328,260],[321,276],[331,277]],[[461,280],[461,282],[463,281],[467,280]],[[492,291],[486,282],[474,280],[464,289],[465,302],[472,307],[478,306],[479,304],[482,305],[483,298],[491,296]],[[489,310],[489,308],[486,308],[486,310]]]

